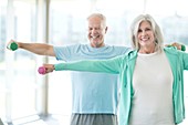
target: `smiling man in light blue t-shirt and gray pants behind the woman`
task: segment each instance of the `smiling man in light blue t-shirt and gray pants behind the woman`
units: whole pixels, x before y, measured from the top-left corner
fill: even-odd
[[[84,59],[102,60],[127,53],[125,46],[104,43],[107,32],[106,18],[93,13],[87,18],[90,44],[52,46],[40,43],[15,42],[20,49],[40,55],[55,56],[63,61]],[[13,42],[10,41],[9,44]],[[9,45],[8,44],[8,45]],[[71,125],[117,125],[118,90],[117,75],[91,72],[72,72]]]

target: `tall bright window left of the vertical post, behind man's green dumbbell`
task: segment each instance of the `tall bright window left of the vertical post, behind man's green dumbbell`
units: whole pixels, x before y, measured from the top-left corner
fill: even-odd
[[[7,122],[36,114],[36,58],[6,49],[7,41],[35,41],[35,0],[0,1],[0,115]]]

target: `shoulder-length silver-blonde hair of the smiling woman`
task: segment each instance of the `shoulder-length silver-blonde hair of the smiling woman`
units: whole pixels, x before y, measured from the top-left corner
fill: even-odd
[[[153,19],[152,15],[149,14],[140,14],[138,15],[132,23],[130,25],[130,40],[132,40],[132,45],[134,49],[139,50],[139,43],[138,43],[138,30],[139,30],[139,25],[143,21],[147,21],[150,23],[152,25],[152,30],[154,32],[154,37],[155,37],[155,50],[156,51],[160,51],[163,49],[163,44],[164,44],[164,38],[163,38],[163,33],[160,31],[159,25],[156,23],[156,21]]]

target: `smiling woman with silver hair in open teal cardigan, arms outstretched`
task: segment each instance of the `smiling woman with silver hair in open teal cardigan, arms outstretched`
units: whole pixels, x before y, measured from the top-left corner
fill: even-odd
[[[119,125],[175,125],[185,118],[184,70],[188,54],[163,48],[163,34],[149,14],[138,15],[130,27],[135,49],[109,60],[44,64],[53,70],[119,74]]]

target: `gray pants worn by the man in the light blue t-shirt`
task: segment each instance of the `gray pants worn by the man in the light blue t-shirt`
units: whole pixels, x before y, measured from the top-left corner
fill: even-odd
[[[71,125],[117,125],[114,114],[72,114]]]

